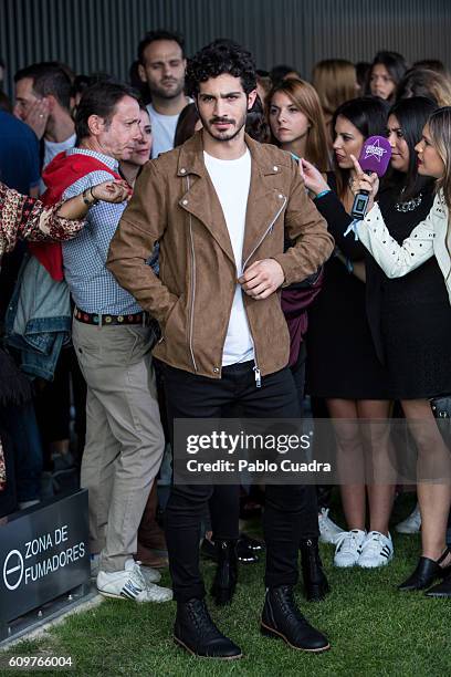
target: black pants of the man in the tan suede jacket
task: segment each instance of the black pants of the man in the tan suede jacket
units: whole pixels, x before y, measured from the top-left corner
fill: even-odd
[[[249,418],[300,418],[290,369],[264,376],[262,387],[256,388],[252,367],[250,362],[231,365],[222,369],[221,379],[212,379],[165,365],[170,428],[175,418],[220,418],[231,403],[239,403]],[[166,540],[177,601],[204,595],[199,571],[200,520],[212,491],[211,486],[171,488],[166,508]],[[300,540],[312,524],[317,529],[314,486],[266,485],[263,528],[268,587],[296,583]]]

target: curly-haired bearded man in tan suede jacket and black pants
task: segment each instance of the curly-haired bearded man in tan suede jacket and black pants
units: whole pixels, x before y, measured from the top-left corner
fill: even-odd
[[[187,82],[203,129],[145,166],[107,265],[161,325],[154,354],[164,363],[171,420],[220,418],[235,403],[252,418],[298,418],[277,290],[315,273],[333,239],[291,156],[244,133],[256,96],[251,54],[217,40],[191,60]],[[285,231],[293,242],[286,252]],[[145,265],[156,241],[159,279]],[[196,656],[239,658],[240,647],[209,615],[199,571],[200,521],[211,493],[211,486],[176,483],[167,506],[175,639]],[[323,652],[327,639],[293,595],[308,496],[305,487],[266,486],[261,629]],[[214,534],[229,571],[237,535]]]

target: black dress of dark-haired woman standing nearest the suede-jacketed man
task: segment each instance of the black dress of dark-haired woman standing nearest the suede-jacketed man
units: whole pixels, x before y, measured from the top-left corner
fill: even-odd
[[[335,188],[334,175],[328,184]],[[332,235],[350,222],[335,192],[317,200]],[[346,253],[364,260],[366,249],[349,240]],[[308,310],[307,392],[315,397],[340,399],[391,399],[389,376],[376,354],[366,314],[366,285],[349,274],[335,257],[325,264],[323,290]]]

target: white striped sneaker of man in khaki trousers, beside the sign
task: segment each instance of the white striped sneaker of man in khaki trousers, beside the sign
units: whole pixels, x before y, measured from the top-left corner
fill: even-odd
[[[168,602],[172,598],[172,591],[168,587],[146,583],[141,569],[135,560],[127,560],[122,571],[114,571],[112,573],[99,571],[97,575],[97,590],[101,595],[116,600]]]

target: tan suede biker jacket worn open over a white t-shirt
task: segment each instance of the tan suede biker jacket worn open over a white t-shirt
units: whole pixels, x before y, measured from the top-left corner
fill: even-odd
[[[262,259],[281,264],[283,287],[316,272],[334,240],[307,197],[289,153],[245,137],[251,186],[243,270]],[[295,242],[284,253],[284,231]],[[159,241],[160,274],[146,264]],[[107,268],[161,325],[155,357],[195,374],[221,377],[237,269],[221,205],[203,163],[202,132],[148,162],[112,240]],[[290,336],[280,294],[244,309],[261,375],[289,362]]]

